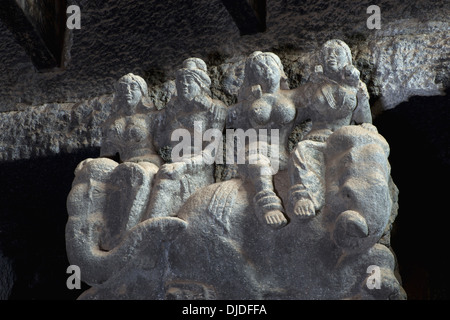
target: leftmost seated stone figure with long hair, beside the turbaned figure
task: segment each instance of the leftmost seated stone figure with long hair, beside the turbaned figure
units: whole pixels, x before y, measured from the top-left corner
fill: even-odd
[[[90,200],[99,202],[96,205],[99,206],[104,224],[99,245],[103,250],[115,248],[127,231],[144,218],[152,180],[162,161],[153,146],[152,123],[156,113],[146,105],[145,80],[130,73],[117,81],[115,89],[114,113],[103,126],[100,158],[84,161],[92,162],[93,167],[103,168],[105,181],[108,180],[108,183],[96,186],[97,191],[93,192],[104,194],[107,201],[102,202],[96,197]],[[103,166],[105,160],[115,165]],[[77,168],[80,184],[83,183],[82,179],[91,179],[89,174],[84,174],[88,167],[80,164]],[[76,201],[76,198],[71,199],[72,203]],[[71,210],[76,212],[78,208],[82,210],[78,206],[73,206]],[[88,225],[89,221],[85,223]]]

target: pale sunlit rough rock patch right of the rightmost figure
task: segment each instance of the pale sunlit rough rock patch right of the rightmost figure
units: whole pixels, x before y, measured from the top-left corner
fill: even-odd
[[[441,27],[450,30],[448,25],[441,24]],[[432,23],[430,28],[433,28]],[[368,47],[371,52],[369,63],[376,67],[373,76],[367,80],[373,84],[373,96],[380,97],[379,109],[394,108],[411,96],[442,94],[444,86],[449,85],[448,79],[442,78],[443,72],[448,77],[450,71],[448,37],[400,34],[370,41]],[[389,66],[385,63],[388,61]]]

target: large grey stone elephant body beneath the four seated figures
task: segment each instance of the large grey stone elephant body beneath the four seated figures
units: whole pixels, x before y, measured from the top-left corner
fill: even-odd
[[[373,126],[336,130],[324,150],[326,205],[310,219],[288,211],[278,230],[253,214],[255,190],[239,179],[196,191],[178,217],[141,221],[109,251],[98,251],[94,224],[103,222],[88,210],[67,233],[71,263],[96,252],[96,269],[81,268],[92,288],[80,299],[404,299],[395,258],[379,243],[393,206],[388,152]],[[287,171],[274,186],[287,201]],[[69,206],[87,192],[71,193]]]

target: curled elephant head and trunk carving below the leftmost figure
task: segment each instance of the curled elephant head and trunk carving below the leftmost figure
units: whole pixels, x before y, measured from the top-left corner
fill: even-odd
[[[66,249],[87,284],[96,286],[113,278],[130,261],[145,257],[157,239],[185,227],[180,219],[140,221],[142,208],[135,196],[148,182],[145,169],[132,162],[118,165],[98,158],[77,166],[67,199]],[[170,228],[177,230],[169,232]]]

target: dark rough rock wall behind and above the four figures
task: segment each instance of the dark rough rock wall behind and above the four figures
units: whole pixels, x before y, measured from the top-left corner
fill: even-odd
[[[68,31],[65,66],[48,72],[34,68],[0,21],[0,111],[4,111],[0,123],[5,128],[0,153],[4,160],[50,155],[57,144],[62,150],[73,150],[73,142],[63,137],[66,129],[61,133],[49,121],[51,113],[91,104],[108,113],[104,97],[112,96],[115,81],[128,72],[142,76],[155,107],[164,108],[176,94],[176,70],[190,56],[208,64],[212,98],[226,105],[237,102],[248,54],[258,50],[279,55],[290,87],[296,88],[314,71],[317,49],[332,38],[343,39],[352,49],[374,116],[413,95],[438,95],[449,86],[450,9],[445,1],[380,1],[380,30],[366,26],[370,1],[270,1],[267,30],[251,36],[240,36],[219,0],[76,4],[82,28]],[[43,134],[36,141],[28,133],[32,127],[10,128],[12,118],[19,123],[36,118],[30,113],[39,114],[39,126],[54,132],[53,140]],[[57,123],[61,121],[73,128],[68,120]],[[99,146],[97,127],[82,123],[74,130],[84,132],[77,137],[81,147]]]

